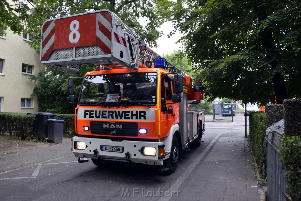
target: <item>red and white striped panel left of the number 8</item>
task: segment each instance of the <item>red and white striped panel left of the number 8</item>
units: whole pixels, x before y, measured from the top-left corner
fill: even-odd
[[[55,20],[48,21],[42,30],[42,61],[46,61],[54,49]]]

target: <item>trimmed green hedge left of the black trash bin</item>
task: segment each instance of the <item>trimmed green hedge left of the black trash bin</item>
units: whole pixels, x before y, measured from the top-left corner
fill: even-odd
[[[30,136],[35,115],[26,113],[0,112],[0,133],[16,133],[17,137],[25,140]]]

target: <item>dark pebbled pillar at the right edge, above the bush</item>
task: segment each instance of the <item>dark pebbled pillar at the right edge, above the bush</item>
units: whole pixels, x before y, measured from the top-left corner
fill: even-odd
[[[284,134],[301,136],[301,99],[283,101]]]

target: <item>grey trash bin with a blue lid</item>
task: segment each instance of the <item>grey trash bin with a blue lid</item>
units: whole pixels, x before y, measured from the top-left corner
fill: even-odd
[[[48,124],[48,142],[62,143],[63,142],[63,119],[47,119]]]

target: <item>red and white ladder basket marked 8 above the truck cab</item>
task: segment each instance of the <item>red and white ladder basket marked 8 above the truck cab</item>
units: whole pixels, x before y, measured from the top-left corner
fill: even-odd
[[[109,10],[47,20],[41,36],[41,64],[73,73],[95,63],[138,71],[138,35]]]

